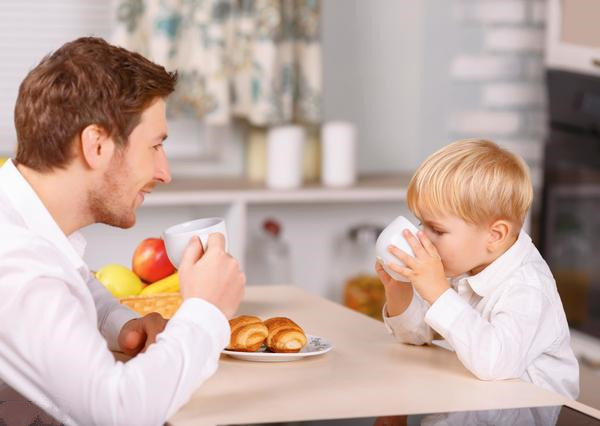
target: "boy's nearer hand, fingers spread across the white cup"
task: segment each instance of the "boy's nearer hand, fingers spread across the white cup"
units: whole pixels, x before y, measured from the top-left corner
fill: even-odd
[[[412,248],[415,257],[398,247],[390,246],[390,253],[400,259],[405,266],[396,263],[390,263],[388,266],[392,271],[408,278],[423,299],[433,304],[450,288],[442,259],[423,231],[417,233],[418,239],[408,229],[405,229],[402,235]]]

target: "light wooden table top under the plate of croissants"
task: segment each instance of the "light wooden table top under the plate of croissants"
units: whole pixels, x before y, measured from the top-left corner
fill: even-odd
[[[219,370],[169,424],[221,425],[568,405],[518,380],[476,379],[456,355],[396,343],[381,322],[292,286],[249,286],[240,314],[287,316],[330,340],[320,357],[284,363],[222,356]]]

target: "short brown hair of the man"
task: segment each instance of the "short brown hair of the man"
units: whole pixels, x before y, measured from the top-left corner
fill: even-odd
[[[39,172],[64,168],[76,154],[75,138],[91,124],[125,147],[142,112],[176,81],[176,73],[101,38],[66,43],[19,87],[15,160]]]

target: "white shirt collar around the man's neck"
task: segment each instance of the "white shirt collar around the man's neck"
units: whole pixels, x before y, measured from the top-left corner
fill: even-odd
[[[42,200],[10,159],[0,167],[0,186],[27,227],[57,247],[85,276],[87,265],[82,259],[86,246],[85,238],[79,232],[74,232],[69,237],[64,234]]]

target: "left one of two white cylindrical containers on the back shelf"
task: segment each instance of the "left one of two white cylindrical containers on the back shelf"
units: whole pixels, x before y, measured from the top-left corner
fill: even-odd
[[[267,187],[293,189],[302,185],[304,128],[280,126],[267,134]]]

